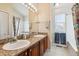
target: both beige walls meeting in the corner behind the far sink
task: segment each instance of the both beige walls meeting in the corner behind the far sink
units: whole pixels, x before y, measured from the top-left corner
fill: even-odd
[[[49,3],[33,4],[38,12],[29,11],[30,31],[48,33],[50,41],[50,22],[52,21],[52,6]]]

